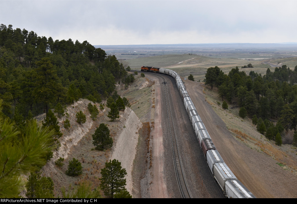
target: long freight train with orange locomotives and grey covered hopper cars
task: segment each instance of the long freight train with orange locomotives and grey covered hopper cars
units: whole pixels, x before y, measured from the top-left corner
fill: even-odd
[[[192,122],[193,129],[198,143],[202,149],[206,162],[217,180],[219,186],[228,198],[256,198],[232,173],[226,165],[219,152],[216,150],[214,143],[208,134],[197,109],[195,108],[189,94],[181,81],[179,75],[169,69],[142,66],[141,71],[156,72],[172,76],[176,81],[176,86],[184,102],[184,106]]]

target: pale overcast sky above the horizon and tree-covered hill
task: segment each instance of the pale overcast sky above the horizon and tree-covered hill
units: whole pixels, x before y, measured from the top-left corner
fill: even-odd
[[[297,42],[297,1],[3,1],[0,24],[92,45]]]

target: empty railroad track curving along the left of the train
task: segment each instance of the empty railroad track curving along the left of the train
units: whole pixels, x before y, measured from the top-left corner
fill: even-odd
[[[137,71],[139,70],[131,70],[131,71]],[[170,129],[170,137],[171,137],[171,144],[172,144],[172,151],[173,151],[173,159],[174,159],[174,165],[176,169],[176,176],[178,179],[178,185],[180,189],[181,196],[183,198],[191,198],[191,194],[189,192],[186,180],[184,178],[184,173],[181,165],[181,159],[179,156],[179,151],[178,151],[178,143],[176,139],[176,132],[174,128],[174,122],[173,122],[173,117],[172,117],[172,112],[171,112],[171,106],[170,106],[170,100],[169,100],[169,95],[168,95],[168,89],[167,89],[167,83],[164,77],[162,77],[159,74],[154,74],[151,72],[147,72],[147,74],[152,74],[152,75],[157,75],[162,79],[162,83],[164,86],[164,94],[165,94],[165,99],[166,99],[166,109],[167,109],[167,116],[168,116],[168,122],[169,122],[169,129]]]

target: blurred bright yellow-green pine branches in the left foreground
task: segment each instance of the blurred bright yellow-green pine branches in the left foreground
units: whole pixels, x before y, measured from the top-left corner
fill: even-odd
[[[19,132],[13,127],[9,119],[2,118],[0,99],[0,197],[18,197],[23,187],[21,174],[33,172],[38,166],[46,163],[45,155],[51,151],[53,130],[40,128],[36,120],[26,124],[24,138],[18,145],[13,145],[13,139]]]

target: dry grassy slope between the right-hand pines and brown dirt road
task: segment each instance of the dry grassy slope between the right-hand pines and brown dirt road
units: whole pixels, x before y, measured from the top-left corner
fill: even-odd
[[[297,151],[296,147],[286,144],[282,146],[275,145],[274,141],[266,139],[266,137],[256,130],[256,126],[252,124],[251,118],[240,118],[238,115],[239,107],[237,105],[229,105],[228,110],[223,110],[222,98],[218,96],[216,88],[206,87],[203,91],[206,95],[206,101],[212,106],[213,110],[225,122],[231,134],[250,148],[263,152],[280,164],[285,169],[297,171]]]

